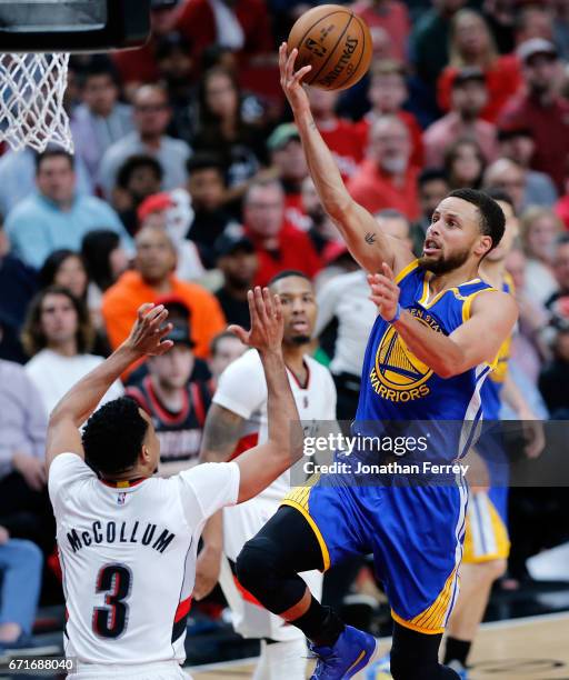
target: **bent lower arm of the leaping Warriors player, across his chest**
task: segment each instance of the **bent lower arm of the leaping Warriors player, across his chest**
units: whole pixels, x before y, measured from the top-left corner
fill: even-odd
[[[447,337],[407,310],[400,310],[395,320],[399,286],[387,264],[383,273],[369,276],[368,281],[370,299],[379,314],[393,323],[411,352],[441,378],[459,376],[479,363],[491,363],[518,318],[518,306],[511,296],[498,290],[485,291],[473,299],[470,318]]]

